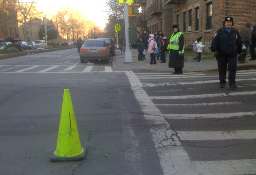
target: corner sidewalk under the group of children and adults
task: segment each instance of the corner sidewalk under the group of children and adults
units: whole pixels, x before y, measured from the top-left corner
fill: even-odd
[[[137,69],[137,70],[151,70],[151,71],[174,71],[173,68],[168,68],[169,55],[166,54],[166,63],[160,63],[156,60],[156,65],[148,65],[150,62],[150,54],[146,53],[144,61],[138,61],[137,49],[131,49],[132,60],[131,63],[125,63],[125,53],[116,53],[113,58],[113,67],[123,69]],[[249,61],[250,57],[246,58],[246,63],[237,63],[237,70],[256,69],[256,60]],[[189,71],[217,71],[217,61],[212,56],[203,57],[202,62],[195,62],[193,58],[186,58],[184,61],[183,72]]]

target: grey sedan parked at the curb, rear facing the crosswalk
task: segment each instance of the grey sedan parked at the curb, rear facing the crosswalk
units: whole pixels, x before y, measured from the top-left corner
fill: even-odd
[[[84,63],[85,59],[106,60],[110,57],[108,44],[104,40],[88,39],[80,48],[80,61]]]

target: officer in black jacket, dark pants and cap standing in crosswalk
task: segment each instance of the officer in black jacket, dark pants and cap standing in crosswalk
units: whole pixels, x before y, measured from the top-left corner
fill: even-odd
[[[232,26],[234,26],[233,18],[226,17],[223,28],[216,32],[210,47],[218,62],[220,88],[224,88],[226,84],[227,65],[229,69],[229,87],[237,88],[237,53],[240,54],[243,51],[243,40],[239,32]]]

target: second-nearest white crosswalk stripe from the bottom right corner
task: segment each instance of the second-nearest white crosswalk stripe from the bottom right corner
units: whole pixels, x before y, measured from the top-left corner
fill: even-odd
[[[256,130],[177,131],[181,140],[256,139]]]

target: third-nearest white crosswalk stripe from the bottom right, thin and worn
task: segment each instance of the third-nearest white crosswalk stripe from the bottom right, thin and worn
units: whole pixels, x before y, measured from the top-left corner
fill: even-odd
[[[254,116],[256,111],[252,112],[234,112],[234,113],[210,113],[210,114],[163,114],[167,119],[210,119],[210,118],[231,118]]]

